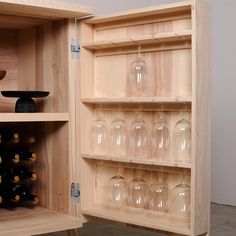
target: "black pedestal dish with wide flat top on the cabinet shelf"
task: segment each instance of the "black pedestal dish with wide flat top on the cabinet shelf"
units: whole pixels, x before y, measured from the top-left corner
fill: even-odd
[[[36,103],[32,98],[43,98],[49,95],[46,91],[2,91],[4,97],[19,98],[16,101],[15,112],[36,112]]]

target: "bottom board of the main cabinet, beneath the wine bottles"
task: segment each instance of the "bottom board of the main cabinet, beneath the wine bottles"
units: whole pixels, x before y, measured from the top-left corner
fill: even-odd
[[[45,234],[82,226],[79,218],[42,207],[1,209],[0,221],[0,236]]]

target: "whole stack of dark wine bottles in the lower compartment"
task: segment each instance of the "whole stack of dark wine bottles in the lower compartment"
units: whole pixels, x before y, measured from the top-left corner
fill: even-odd
[[[29,151],[36,138],[25,132],[11,127],[0,129],[0,207],[36,206],[39,203],[39,198],[31,193],[39,177],[33,171],[37,154]]]

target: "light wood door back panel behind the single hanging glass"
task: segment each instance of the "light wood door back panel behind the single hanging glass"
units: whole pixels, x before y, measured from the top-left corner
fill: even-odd
[[[151,83],[149,96],[191,96],[191,50],[142,53]],[[131,96],[130,67],[136,54],[96,57],[94,97]],[[185,67],[180,64],[185,63]],[[183,85],[183,86],[181,86]]]

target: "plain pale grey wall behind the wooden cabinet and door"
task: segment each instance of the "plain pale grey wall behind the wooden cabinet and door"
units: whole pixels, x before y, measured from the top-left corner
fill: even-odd
[[[174,3],[177,0],[68,0],[91,4],[95,14]],[[212,7],[212,201],[236,206],[235,0],[208,0]],[[234,32],[235,31],[235,32]],[[235,66],[235,67],[234,67]]]

